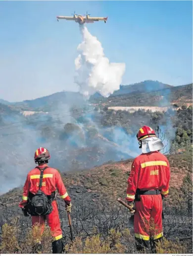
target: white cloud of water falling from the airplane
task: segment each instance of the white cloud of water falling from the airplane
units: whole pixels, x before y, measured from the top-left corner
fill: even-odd
[[[77,48],[79,55],[75,59],[75,83],[80,86],[80,92],[85,96],[99,92],[108,97],[119,89],[125,64],[109,63],[97,37],[91,35],[85,26],[80,26],[80,31],[83,42]]]

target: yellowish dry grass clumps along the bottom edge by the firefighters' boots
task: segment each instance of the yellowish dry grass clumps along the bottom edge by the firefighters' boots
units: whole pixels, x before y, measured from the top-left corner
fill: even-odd
[[[36,225],[23,234],[19,219],[15,218],[9,224],[2,226],[0,235],[0,254],[51,254],[51,234],[46,227],[41,235],[41,227]],[[133,254],[136,253],[135,239],[129,229],[121,232],[109,230],[104,237],[93,229],[90,237],[76,237],[74,243],[65,246],[67,254]],[[156,246],[157,254],[185,254],[187,247],[179,240],[175,242],[164,239]]]

